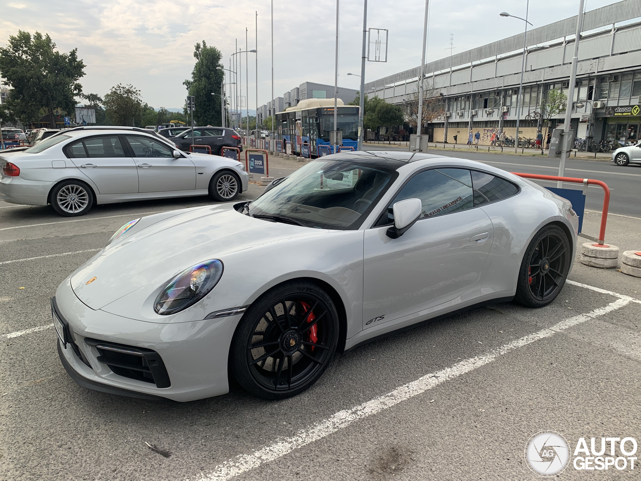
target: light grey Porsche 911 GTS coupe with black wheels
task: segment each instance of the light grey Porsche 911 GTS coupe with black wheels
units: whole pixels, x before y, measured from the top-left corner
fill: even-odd
[[[134,219],[51,300],[76,382],[190,401],[293,396],[336,351],[475,305],[558,296],[569,201],[471,160],[354,152],[251,202]]]

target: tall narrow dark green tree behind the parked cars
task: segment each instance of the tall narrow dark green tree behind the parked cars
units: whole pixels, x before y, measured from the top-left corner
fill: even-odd
[[[203,40],[202,46],[200,42],[194,46],[194,58],[196,58],[196,65],[192,71],[192,79],[183,82],[189,95],[195,97],[194,123],[220,126],[222,125],[221,84],[224,75],[223,71],[216,70],[216,67],[222,67],[221,51],[216,47],[208,47]]]

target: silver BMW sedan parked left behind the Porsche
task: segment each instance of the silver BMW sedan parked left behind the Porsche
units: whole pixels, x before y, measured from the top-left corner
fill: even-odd
[[[181,152],[139,128],[78,127],[26,150],[0,154],[0,199],[47,205],[61,215],[94,204],[209,195],[231,201],[247,190],[241,162]]]

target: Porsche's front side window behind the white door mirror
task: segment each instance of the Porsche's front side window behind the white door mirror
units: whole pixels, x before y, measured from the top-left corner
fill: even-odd
[[[430,169],[415,174],[397,194],[388,208],[388,217],[378,225],[394,221],[392,207],[405,199],[420,199],[423,208],[420,219],[450,214],[474,207],[472,178],[467,169]],[[387,222],[385,222],[387,220]]]

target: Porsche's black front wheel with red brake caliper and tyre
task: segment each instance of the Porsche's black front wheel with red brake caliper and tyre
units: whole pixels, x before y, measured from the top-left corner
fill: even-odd
[[[242,387],[276,400],[295,396],[322,375],[338,344],[331,298],[311,282],[267,292],[241,319],[229,365]]]

